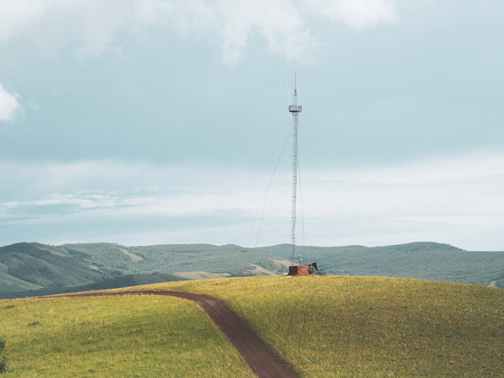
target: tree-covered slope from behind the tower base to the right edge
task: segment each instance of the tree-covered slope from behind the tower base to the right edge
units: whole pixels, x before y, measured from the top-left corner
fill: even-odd
[[[257,249],[277,256],[290,254],[289,244]],[[302,249],[305,262],[318,261],[321,270],[328,274],[419,278],[485,286],[504,279],[502,251],[467,251],[434,242],[380,247],[305,246]]]

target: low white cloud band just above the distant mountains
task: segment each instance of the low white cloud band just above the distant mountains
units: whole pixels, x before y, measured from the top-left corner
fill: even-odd
[[[73,229],[79,240],[82,231],[130,235],[113,241],[131,244],[149,243],[145,235],[156,242],[170,235],[164,242],[254,245],[271,174],[117,161],[0,165],[0,198],[5,201],[0,203],[0,230],[27,232],[26,227],[57,223]],[[469,250],[504,249],[503,151],[316,171],[315,183],[303,166],[301,162],[300,241],[304,213],[305,243],[310,244],[427,240]],[[288,242],[288,172],[275,176],[268,198],[258,245]]]

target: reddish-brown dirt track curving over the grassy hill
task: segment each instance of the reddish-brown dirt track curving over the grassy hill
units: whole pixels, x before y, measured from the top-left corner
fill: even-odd
[[[297,378],[298,375],[287,366],[266,344],[240,319],[228,306],[219,299],[206,295],[179,291],[119,291],[112,293],[80,293],[51,295],[39,298],[69,298],[118,295],[164,295],[189,299],[198,303],[219,326],[224,335],[245,358],[250,368],[260,378]]]

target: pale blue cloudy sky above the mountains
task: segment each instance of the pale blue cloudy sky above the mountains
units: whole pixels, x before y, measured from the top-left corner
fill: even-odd
[[[0,0],[0,245],[290,242],[297,72],[298,244],[504,250],[503,16]]]

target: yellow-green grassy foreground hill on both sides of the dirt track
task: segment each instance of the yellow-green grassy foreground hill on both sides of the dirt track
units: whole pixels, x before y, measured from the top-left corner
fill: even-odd
[[[225,301],[305,378],[504,376],[504,291],[326,276],[180,281]],[[0,301],[8,376],[251,376],[194,303],[156,296]]]

